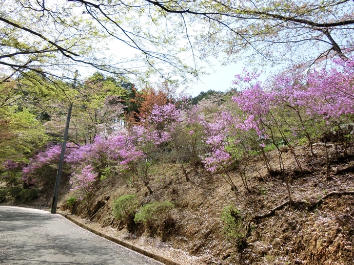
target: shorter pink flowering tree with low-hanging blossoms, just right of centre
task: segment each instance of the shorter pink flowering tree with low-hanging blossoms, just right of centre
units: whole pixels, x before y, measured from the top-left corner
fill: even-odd
[[[253,116],[244,115],[236,104],[229,102],[227,108],[215,114],[213,120],[205,126],[204,139],[210,149],[202,162],[207,170],[220,173],[233,190],[238,188],[228,171],[230,166],[237,169],[245,190],[250,192],[246,166],[251,165],[247,160],[252,152],[262,148],[261,143],[257,142],[259,129]],[[265,161],[270,170],[268,160]]]

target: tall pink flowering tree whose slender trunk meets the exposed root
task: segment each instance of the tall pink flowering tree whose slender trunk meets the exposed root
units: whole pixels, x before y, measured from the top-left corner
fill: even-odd
[[[242,80],[235,82],[238,83]],[[249,82],[249,76],[245,75],[244,82]],[[272,87],[273,88],[273,87]],[[243,115],[248,120],[251,120],[252,128],[255,129],[260,140],[269,139],[270,142],[278,151],[280,173],[285,180],[289,202],[293,203],[289,187],[288,174],[285,172],[283,163],[283,153],[290,151],[292,154],[300,175],[303,174],[303,168],[298,158],[296,151],[292,144],[297,138],[296,131],[292,126],[293,120],[301,116],[294,116],[293,109],[285,104],[286,98],[279,89],[266,89],[263,84],[256,81],[254,85],[235,95],[232,99],[239,106]],[[289,97],[288,97],[289,98]],[[292,134],[290,132],[292,131]],[[264,152],[265,143],[259,145],[261,147],[262,155],[267,165],[269,174],[273,173],[270,165],[267,163],[266,154]]]

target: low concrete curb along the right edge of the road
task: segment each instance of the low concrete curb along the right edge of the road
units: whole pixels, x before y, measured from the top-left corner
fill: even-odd
[[[160,261],[160,262],[162,262],[162,263],[164,263],[164,264],[166,264],[166,265],[181,265],[180,263],[174,262],[174,261],[169,260],[169,259],[167,259],[167,258],[161,257],[161,256],[159,256],[159,255],[153,254],[153,253],[151,253],[151,252],[148,252],[148,251],[146,251],[146,250],[143,250],[143,249],[141,249],[141,248],[138,248],[138,247],[136,247],[136,246],[134,246],[134,245],[131,245],[131,244],[129,244],[128,242],[122,241],[122,240],[120,240],[120,239],[117,239],[117,238],[114,238],[114,237],[112,237],[112,236],[106,235],[106,234],[104,234],[104,233],[102,233],[102,232],[100,232],[100,231],[94,230],[94,229],[92,229],[92,228],[86,226],[85,224],[78,222],[77,220],[75,220],[74,218],[72,218],[72,217],[70,216],[70,214],[65,214],[65,213],[60,213],[60,212],[57,212],[57,214],[62,215],[63,217],[65,217],[66,219],[68,219],[70,222],[74,223],[74,224],[77,225],[77,226],[80,226],[81,228],[83,228],[83,229],[85,229],[85,230],[87,230],[87,231],[89,231],[89,232],[91,232],[91,233],[94,233],[94,234],[96,234],[96,235],[98,235],[98,236],[101,236],[101,237],[103,237],[103,238],[106,238],[106,239],[108,239],[108,240],[110,240],[110,241],[112,241],[112,242],[114,242],[114,243],[116,243],[116,244],[119,244],[119,245],[121,245],[121,246],[123,246],[123,247],[126,247],[126,248],[128,248],[128,249],[130,249],[130,250],[133,250],[133,251],[135,251],[135,252],[137,252],[137,253],[140,253],[140,254],[142,254],[142,255],[144,255],[144,256],[147,256],[147,257],[149,257],[149,258],[152,258],[152,259],[155,259],[155,260],[157,260],[157,261]]]

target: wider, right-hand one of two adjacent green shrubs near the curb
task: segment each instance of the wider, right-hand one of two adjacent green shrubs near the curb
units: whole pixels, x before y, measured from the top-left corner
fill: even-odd
[[[175,227],[173,209],[174,204],[169,201],[150,203],[140,207],[139,212],[135,214],[134,221],[144,224],[150,235],[162,235],[164,239]]]

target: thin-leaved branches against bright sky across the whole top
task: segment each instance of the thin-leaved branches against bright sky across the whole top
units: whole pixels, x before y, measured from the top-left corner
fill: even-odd
[[[333,56],[346,59],[354,46],[350,0],[0,0],[0,4],[0,64],[7,76],[31,70],[47,78],[60,77],[79,65],[119,74],[195,76],[195,61],[188,67],[180,59],[187,51],[194,59],[225,53],[229,61],[249,57],[313,63]],[[112,39],[143,56],[117,62],[99,55],[97,50],[107,48],[104,41]],[[123,49],[116,54],[126,55]]]

